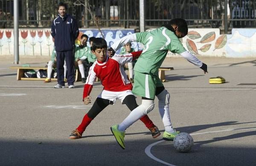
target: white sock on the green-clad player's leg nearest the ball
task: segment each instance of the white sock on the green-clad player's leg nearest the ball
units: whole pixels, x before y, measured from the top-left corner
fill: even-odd
[[[166,103],[166,90],[163,90],[159,95],[158,98],[158,109],[160,116],[163,120],[163,126],[165,127],[166,132],[172,133],[175,130],[172,128],[170,112],[169,112],[169,101]]]

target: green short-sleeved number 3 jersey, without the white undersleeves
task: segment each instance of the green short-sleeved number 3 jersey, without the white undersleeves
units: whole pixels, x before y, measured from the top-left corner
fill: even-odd
[[[140,73],[158,76],[158,69],[168,50],[179,54],[186,51],[177,36],[165,27],[136,33],[136,38],[137,42],[144,44],[143,52],[134,66],[134,70]]]

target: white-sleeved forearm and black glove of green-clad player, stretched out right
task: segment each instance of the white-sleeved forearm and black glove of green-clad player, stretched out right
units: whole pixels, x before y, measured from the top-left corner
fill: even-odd
[[[201,68],[202,70],[204,70],[204,73],[208,73],[207,65],[205,63],[201,62],[195,55],[193,55],[189,51],[184,51],[183,53],[180,53],[180,55],[183,56],[183,58],[185,58],[190,63],[192,63],[195,66],[197,66],[198,68]]]

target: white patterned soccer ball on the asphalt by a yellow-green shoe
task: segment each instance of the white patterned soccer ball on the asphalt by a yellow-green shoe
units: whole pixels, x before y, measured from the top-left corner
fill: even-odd
[[[186,132],[181,132],[180,134],[176,135],[175,138],[173,139],[173,146],[179,152],[189,152],[192,149],[193,145],[193,138]]]

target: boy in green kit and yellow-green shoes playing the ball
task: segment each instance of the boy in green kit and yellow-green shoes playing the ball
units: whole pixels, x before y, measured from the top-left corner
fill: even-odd
[[[158,109],[163,120],[165,132],[163,139],[172,141],[179,133],[172,128],[169,113],[170,94],[165,90],[163,83],[158,77],[158,69],[163,63],[168,51],[178,53],[192,64],[207,73],[207,65],[202,63],[181,44],[179,38],[185,37],[188,33],[186,21],[180,18],[170,20],[168,25],[163,25],[152,31],[145,31],[128,35],[115,42],[108,50],[114,52],[127,42],[141,42],[144,44],[143,52],[134,66],[134,87],[132,92],[142,97],[142,104],[134,109],[119,125],[113,125],[111,131],[117,143],[125,148],[125,129],[137,121],[143,115],[154,109],[154,98],[158,98]]]

